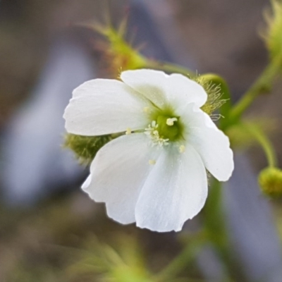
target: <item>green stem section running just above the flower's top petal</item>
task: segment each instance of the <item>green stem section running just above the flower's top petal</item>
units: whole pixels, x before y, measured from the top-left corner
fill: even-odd
[[[190,75],[191,77],[196,74],[189,68],[184,68],[183,66],[178,66],[174,63],[147,60],[145,63],[146,68],[154,68],[161,71],[167,71],[168,73],[181,73],[183,75]]]

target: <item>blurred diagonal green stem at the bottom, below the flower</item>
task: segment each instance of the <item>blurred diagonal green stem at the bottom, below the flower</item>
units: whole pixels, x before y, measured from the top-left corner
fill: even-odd
[[[154,281],[171,281],[188,266],[207,241],[202,235],[190,241],[180,254],[155,276]]]

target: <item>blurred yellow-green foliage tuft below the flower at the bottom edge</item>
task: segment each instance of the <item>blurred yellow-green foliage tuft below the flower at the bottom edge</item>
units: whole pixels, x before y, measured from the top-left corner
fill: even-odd
[[[125,234],[116,236],[117,250],[92,235],[86,241],[82,258],[69,268],[70,276],[101,282],[153,281],[136,238]]]

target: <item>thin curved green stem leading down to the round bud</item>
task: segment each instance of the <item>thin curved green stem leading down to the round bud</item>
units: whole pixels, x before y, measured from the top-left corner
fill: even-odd
[[[256,138],[257,142],[259,142],[259,145],[261,145],[262,149],[264,149],[264,153],[266,155],[266,159],[269,163],[269,166],[276,167],[277,165],[276,153],[269,138],[264,134],[264,132],[258,126],[254,124],[249,125],[247,123],[244,123],[243,126]]]

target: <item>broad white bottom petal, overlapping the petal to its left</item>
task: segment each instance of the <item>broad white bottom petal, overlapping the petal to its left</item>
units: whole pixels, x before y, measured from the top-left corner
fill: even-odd
[[[207,174],[199,154],[187,145],[185,152],[167,149],[149,174],[138,199],[137,226],[152,231],[180,231],[198,214],[207,198]]]

